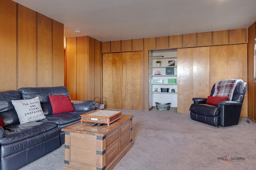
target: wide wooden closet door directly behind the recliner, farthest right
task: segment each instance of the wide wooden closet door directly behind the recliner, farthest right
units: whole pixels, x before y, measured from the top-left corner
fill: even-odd
[[[210,84],[230,78],[247,78],[247,44],[210,47]],[[241,117],[248,116],[248,90],[244,97]]]

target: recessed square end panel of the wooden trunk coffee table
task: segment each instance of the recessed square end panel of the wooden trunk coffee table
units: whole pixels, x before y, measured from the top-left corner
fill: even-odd
[[[74,133],[70,144],[70,161],[96,166],[96,136]]]

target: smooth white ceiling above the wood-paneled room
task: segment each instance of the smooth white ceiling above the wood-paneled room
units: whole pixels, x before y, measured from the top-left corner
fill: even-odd
[[[13,0],[100,41],[248,28],[256,0]],[[81,33],[75,33],[80,30]]]

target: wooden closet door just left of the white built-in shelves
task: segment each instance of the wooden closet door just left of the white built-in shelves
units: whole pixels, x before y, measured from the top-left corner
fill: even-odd
[[[143,52],[122,53],[122,109],[143,110]]]

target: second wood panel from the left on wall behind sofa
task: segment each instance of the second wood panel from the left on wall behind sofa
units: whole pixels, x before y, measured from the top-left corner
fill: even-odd
[[[36,87],[36,12],[18,5],[18,88]]]

